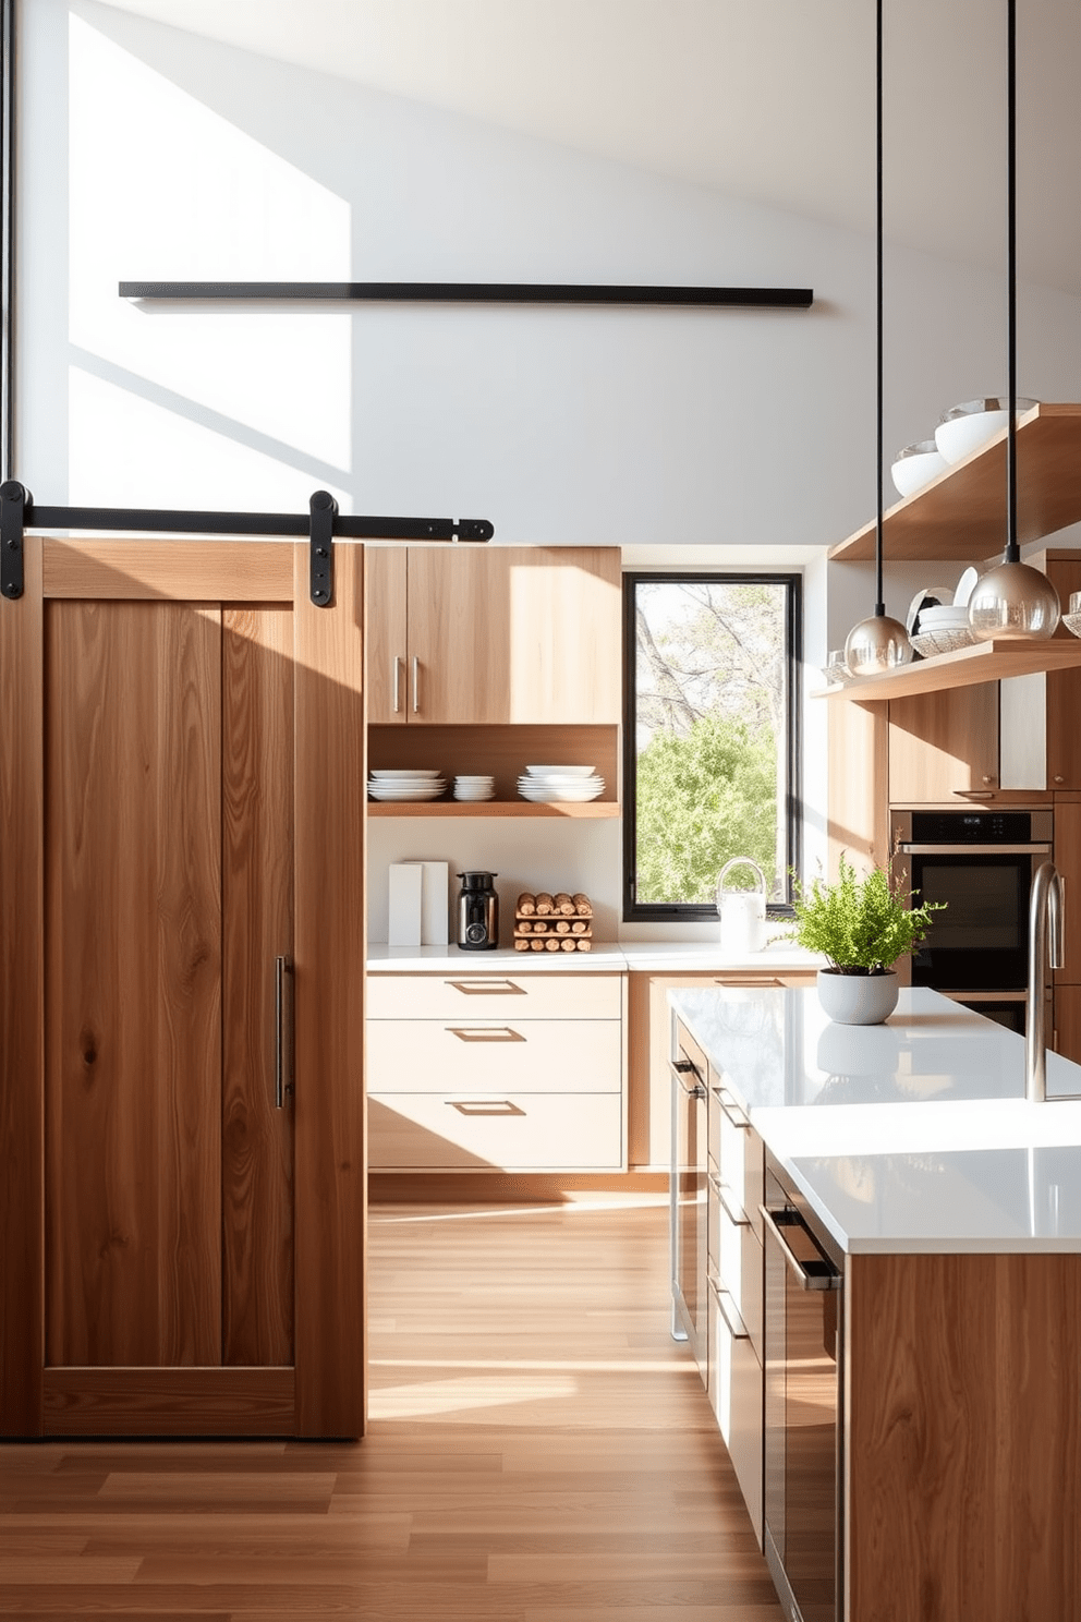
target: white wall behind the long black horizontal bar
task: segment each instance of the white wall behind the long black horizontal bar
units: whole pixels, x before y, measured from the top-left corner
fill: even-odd
[[[347,513],[489,517],[496,543],[778,563],[874,509],[865,237],[94,0],[23,0],[19,96],[15,472],[39,501],[303,511],[327,487]],[[122,279],[788,284],[815,307],[138,307]],[[890,248],[887,315],[890,457],[1003,386],[1002,279]],[[1024,287],[1019,350],[1023,393],[1081,397],[1081,300]],[[814,667],[872,586],[805,579]],[[812,858],[823,717],[807,704]],[[617,824],[452,827],[371,824],[373,938],[405,855],[587,889],[616,928]]]

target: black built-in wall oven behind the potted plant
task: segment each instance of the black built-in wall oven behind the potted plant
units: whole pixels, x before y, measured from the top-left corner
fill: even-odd
[[[1052,855],[1053,813],[893,811],[890,832],[917,902],[946,903],[912,955],[912,985],[1023,1032],[1029,892]]]

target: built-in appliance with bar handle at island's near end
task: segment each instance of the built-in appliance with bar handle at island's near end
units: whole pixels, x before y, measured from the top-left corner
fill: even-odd
[[[844,1257],[767,1152],[765,1557],[793,1622],[840,1622]]]

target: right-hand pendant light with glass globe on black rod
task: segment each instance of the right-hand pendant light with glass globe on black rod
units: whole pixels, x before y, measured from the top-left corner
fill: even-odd
[[[1006,550],[1002,563],[972,587],[969,626],[977,642],[1029,641],[1053,636],[1058,592],[1039,569],[1021,563],[1018,545],[1018,68],[1016,0],[1006,0],[1006,363],[1010,422],[1006,428]]]

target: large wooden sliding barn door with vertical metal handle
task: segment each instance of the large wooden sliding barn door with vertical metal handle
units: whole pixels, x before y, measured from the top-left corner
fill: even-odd
[[[2,1434],[357,1435],[361,555],[314,608],[305,547],[26,550]]]

